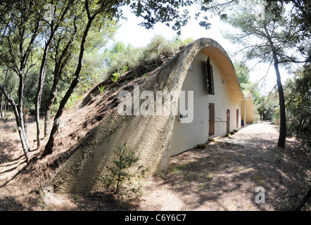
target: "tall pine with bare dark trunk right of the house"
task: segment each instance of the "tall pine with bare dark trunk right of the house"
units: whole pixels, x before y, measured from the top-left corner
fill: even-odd
[[[262,15],[258,15],[255,7],[239,6],[236,14],[231,15],[228,22],[239,28],[241,34],[231,35],[230,39],[235,43],[242,43],[246,51],[246,59],[258,58],[260,61],[273,62],[277,76],[277,89],[279,92],[280,108],[280,132],[278,146],[285,146],[286,139],[286,113],[284,102],[284,91],[281,84],[281,74],[279,72],[280,63],[291,61],[298,62],[293,55],[288,56],[288,51],[294,49],[299,43],[299,35],[293,17],[286,12],[286,8],[277,4],[265,4],[260,1],[260,6],[265,6]],[[255,2],[250,3],[255,5]],[[258,41],[256,43],[255,41]]]

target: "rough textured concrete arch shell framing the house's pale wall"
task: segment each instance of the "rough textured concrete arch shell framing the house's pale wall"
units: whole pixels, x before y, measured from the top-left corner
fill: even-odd
[[[222,46],[212,39],[198,39],[177,53],[155,74],[147,76],[139,85],[140,91],[177,91],[182,89],[189,66],[199,51],[213,55],[229,84],[232,98],[243,101],[238,79],[231,60]],[[177,96],[178,97],[178,96]],[[59,193],[80,193],[102,188],[102,179],[109,175],[113,149],[125,141],[139,153],[141,163],[149,167],[148,174],[167,169],[170,162],[170,143],[174,115],[120,116],[115,110],[78,146],[70,158],[56,172],[47,186]]]

